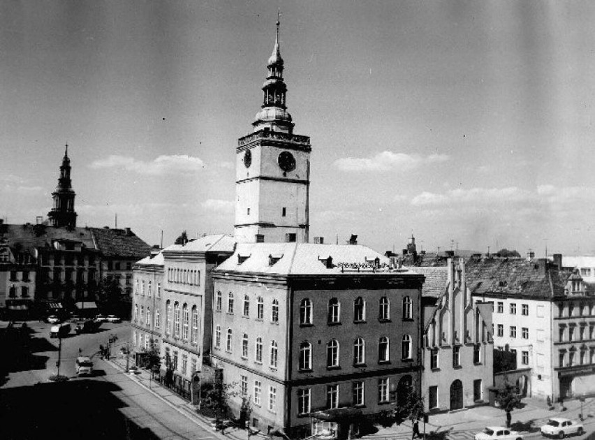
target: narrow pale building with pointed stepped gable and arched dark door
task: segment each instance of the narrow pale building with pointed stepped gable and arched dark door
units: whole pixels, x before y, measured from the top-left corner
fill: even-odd
[[[425,276],[422,294],[429,305],[423,338],[426,411],[484,404],[493,385],[492,305],[471,296],[462,259],[412,270]]]

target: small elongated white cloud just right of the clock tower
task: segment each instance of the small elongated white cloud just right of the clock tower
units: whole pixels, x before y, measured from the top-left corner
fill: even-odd
[[[448,161],[446,154],[430,154],[420,156],[419,154],[381,152],[372,157],[345,157],[337,159],[334,166],[341,171],[406,171],[418,168],[428,163],[439,163]]]

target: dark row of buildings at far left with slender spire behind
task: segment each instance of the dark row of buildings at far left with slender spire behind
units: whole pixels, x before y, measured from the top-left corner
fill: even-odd
[[[117,281],[132,298],[132,266],[151,247],[130,228],[77,227],[68,146],[47,220],[7,224],[0,219],[0,312],[22,318],[78,304],[96,309],[101,281]]]

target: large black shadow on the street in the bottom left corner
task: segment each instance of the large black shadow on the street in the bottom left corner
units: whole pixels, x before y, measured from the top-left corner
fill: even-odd
[[[126,404],[113,394],[118,390],[114,383],[89,379],[2,389],[1,437],[156,440],[152,430],[122,414]]]

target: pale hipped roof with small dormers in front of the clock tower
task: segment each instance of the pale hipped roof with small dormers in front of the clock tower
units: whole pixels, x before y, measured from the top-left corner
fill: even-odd
[[[327,267],[328,257],[332,258],[332,267]],[[217,271],[281,275],[353,274],[358,271],[358,265],[371,265],[375,258],[379,259],[381,265],[388,266],[388,258],[360,245],[240,243],[237,244],[233,256],[221,263]],[[342,270],[345,266],[347,270]],[[362,267],[362,272],[372,273],[372,270]],[[402,270],[402,273],[412,274],[406,269]]]

